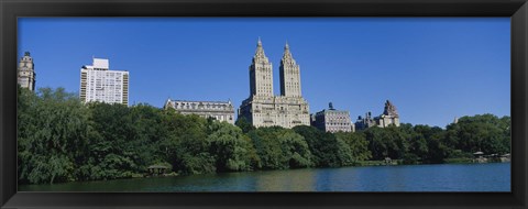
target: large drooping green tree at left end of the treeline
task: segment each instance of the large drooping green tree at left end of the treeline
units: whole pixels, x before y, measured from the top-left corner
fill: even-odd
[[[88,111],[63,88],[36,95],[19,88],[19,182],[41,184],[75,180],[89,143]]]

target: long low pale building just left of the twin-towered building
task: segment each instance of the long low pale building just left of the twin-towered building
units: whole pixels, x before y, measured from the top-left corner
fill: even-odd
[[[234,108],[231,101],[165,101],[164,109],[175,109],[182,114],[197,114],[204,118],[212,118],[234,124]]]

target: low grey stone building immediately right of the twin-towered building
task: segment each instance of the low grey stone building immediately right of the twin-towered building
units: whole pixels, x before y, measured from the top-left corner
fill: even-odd
[[[354,125],[350,120],[350,112],[333,109],[332,102],[329,108],[312,114],[312,125],[324,132],[351,132]]]

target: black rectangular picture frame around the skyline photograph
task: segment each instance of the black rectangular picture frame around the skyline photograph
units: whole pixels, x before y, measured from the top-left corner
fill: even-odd
[[[510,16],[512,193],[18,193],[21,16]],[[527,208],[527,0],[0,0],[1,208]]]

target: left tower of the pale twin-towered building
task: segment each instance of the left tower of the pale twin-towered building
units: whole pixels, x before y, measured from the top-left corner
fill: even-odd
[[[273,97],[272,63],[264,54],[261,38],[256,43],[256,52],[250,65],[250,91],[252,96]]]

